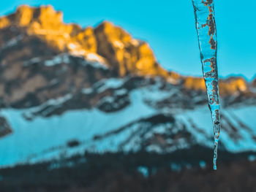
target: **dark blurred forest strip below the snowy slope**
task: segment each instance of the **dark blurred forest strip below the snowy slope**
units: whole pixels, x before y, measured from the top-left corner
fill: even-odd
[[[212,150],[195,146],[175,153],[85,153],[43,164],[0,170],[1,192],[120,191],[256,191],[252,153],[219,153],[212,169]],[[200,166],[200,162],[206,166]],[[178,165],[179,172],[171,169]],[[148,175],[138,171],[143,166]]]

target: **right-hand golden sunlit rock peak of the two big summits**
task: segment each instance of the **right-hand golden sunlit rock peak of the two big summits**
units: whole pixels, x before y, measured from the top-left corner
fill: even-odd
[[[110,68],[121,77],[127,74],[169,77],[146,42],[132,37],[113,23],[103,22],[95,28],[97,53],[107,58]]]

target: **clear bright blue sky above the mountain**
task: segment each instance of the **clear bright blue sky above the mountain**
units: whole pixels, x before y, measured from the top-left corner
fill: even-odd
[[[241,2],[215,0],[219,74],[242,74],[251,80],[256,74],[256,1]],[[0,15],[13,12],[20,4],[52,4],[64,12],[64,22],[81,26],[109,20],[146,40],[165,69],[202,74],[191,0],[8,0],[1,4]]]

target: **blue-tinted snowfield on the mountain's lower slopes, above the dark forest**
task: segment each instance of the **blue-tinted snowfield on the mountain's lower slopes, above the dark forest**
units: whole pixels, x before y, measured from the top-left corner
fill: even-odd
[[[205,104],[194,109],[182,105],[161,102],[168,98],[184,96],[178,87],[165,85],[161,79],[135,82],[137,88],[129,89],[129,80],[102,80],[93,86],[102,96],[91,109],[66,110],[61,115],[43,115],[51,107],[65,107],[73,99],[71,94],[49,100],[40,107],[23,110],[5,109],[2,115],[12,128],[12,134],[0,139],[1,166],[20,163],[36,163],[53,158],[63,158],[84,150],[105,153],[106,151],[129,151],[146,149],[157,153],[169,153],[189,148],[192,145],[212,147],[211,115]],[[128,83],[129,84],[129,83]],[[128,87],[126,87],[128,86]],[[85,90],[83,90],[84,92]],[[87,88],[86,93],[91,93]],[[116,105],[116,95],[124,94],[129,104],[105,112],[100,104]],[[195,97],[198,102],[200,96]],[[203,97],[202,97],[203,99]],[[182,99],[180,99],[182,101]],[[159,105],[159,106],[158,106]],[[39,109],[40,108],[40,109]],[[42,110],[45,109],[45,110]],[[34,111],[34,118],[24,118]],[[241,152],[255,150],[256,106],[238,105],[222,109],[222,149]],[[77,145],[70,147],[69,142]]]

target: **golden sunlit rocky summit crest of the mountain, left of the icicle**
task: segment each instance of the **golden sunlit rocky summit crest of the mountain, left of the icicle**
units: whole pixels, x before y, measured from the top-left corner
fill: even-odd
[[[127,31],[105,21],[96,28],[65,24],[62,12],[51,6],[18,7],[0,20],[1,28],[18,28],[46,42],[56,52],[71,53],[99,61],[121,77],[127,74],[178,77],[162,69],[146,42],[133,39]]]

